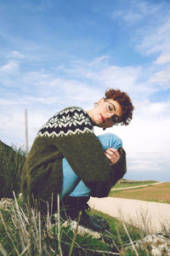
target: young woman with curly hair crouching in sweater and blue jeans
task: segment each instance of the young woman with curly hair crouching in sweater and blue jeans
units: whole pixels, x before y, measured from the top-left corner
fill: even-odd
[[[73,107],[56,113],[37,133],[26,158],[21,178],[25,198],[36,200],[42,212],[47,212],[47,202],[49,209],[53,203],[54,212],[59,194],[69,217],[77,218],[90,195],[107,196],[126,172],[126,156],[120,138],[96,137],[94,125],[128,125],[132,117],[129,96],[114,89],[88,111]]]

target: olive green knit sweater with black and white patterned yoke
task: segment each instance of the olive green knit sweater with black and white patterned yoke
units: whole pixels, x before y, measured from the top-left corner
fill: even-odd
[[[48,202],[54,195],[55,201],[62,189],[63,158],[96,197],[107,196],[126,172],[125,151],[122,149],[120,160],[111,166],[88,113],[82,108],[65,108],[37,134],[22,172],[23,195]]]

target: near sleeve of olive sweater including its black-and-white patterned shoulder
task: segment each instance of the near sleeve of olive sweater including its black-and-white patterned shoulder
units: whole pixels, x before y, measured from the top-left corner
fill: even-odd
[[[117,175],[94,135],[88,113],[82,108],[66,108],[50,119],[39,136],[48,136],[71,168],[91,189],[91,195],[107,196]]]

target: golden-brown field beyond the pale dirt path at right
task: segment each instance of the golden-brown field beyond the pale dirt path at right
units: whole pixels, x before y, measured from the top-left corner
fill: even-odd
[[[161,183],[139,189],[111,191],[110,196],[170,203],[170,183]]]

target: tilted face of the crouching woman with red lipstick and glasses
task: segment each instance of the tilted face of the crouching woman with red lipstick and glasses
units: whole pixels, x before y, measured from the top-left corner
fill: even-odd
[[[113,99],[101,99],[99,105],[94,106],[91,118],[95,125],[108,128],[119,122],[122,116],[120,104]]]

